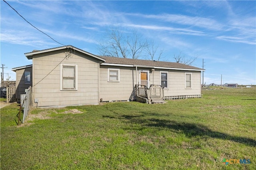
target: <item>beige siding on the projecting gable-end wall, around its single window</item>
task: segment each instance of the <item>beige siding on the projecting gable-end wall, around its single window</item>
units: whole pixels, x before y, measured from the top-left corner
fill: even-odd
[[[38,99],[38,107],[96,104],[99,101],[98,59],[78,51],[64,59],[65,51],[52,51],[33,57],[33,91],[34,98]],[[60,89],[60,62],[77,65],[77,90]]]

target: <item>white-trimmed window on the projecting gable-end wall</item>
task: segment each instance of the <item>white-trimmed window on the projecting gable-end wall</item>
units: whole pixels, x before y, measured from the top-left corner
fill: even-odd
[[[60,65],[60,90],[77,90],[77,65]]]

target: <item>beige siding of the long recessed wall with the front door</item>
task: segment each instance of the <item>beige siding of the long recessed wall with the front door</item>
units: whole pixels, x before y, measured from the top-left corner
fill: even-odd
[[[108,82],[108,68],[120,69],[120,82]],[[150,70],[138,68],[139,70]],[[165,96],[200,95],[200,71],[179,71],[156,69],[149,71],[149,84],[161,85],[160,72],[168,72],[168,89],[164,89]],[[192,89],[185,88],[185,73],[192,73]],[[133,77],[132,77],[133,75]],[[135,67],[114,67],[100,65],[100,98],[102,101],[133,100],[136,85]]]

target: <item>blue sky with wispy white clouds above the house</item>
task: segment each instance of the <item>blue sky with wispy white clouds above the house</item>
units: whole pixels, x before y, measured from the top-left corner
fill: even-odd
[[[7,1],[57,42],[99,54],[98,42],[112,26],[136,29],[154,40],[164,61],[180,52],[198,59],[204,82],[256,84],[256,1]],[[62,45],[1,0],[1,64],[32,64],[24,53]],[[4,80],[7,78],[4,74]]]

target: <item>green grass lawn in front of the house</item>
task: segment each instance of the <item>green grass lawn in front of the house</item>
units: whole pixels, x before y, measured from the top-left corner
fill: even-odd
[[[0,169],[254,169],[256,90],[203,94],[166,104],[33,109],[21,126],[12,104],[1,109]],[[224,165],[224,158],[251,163]]]

